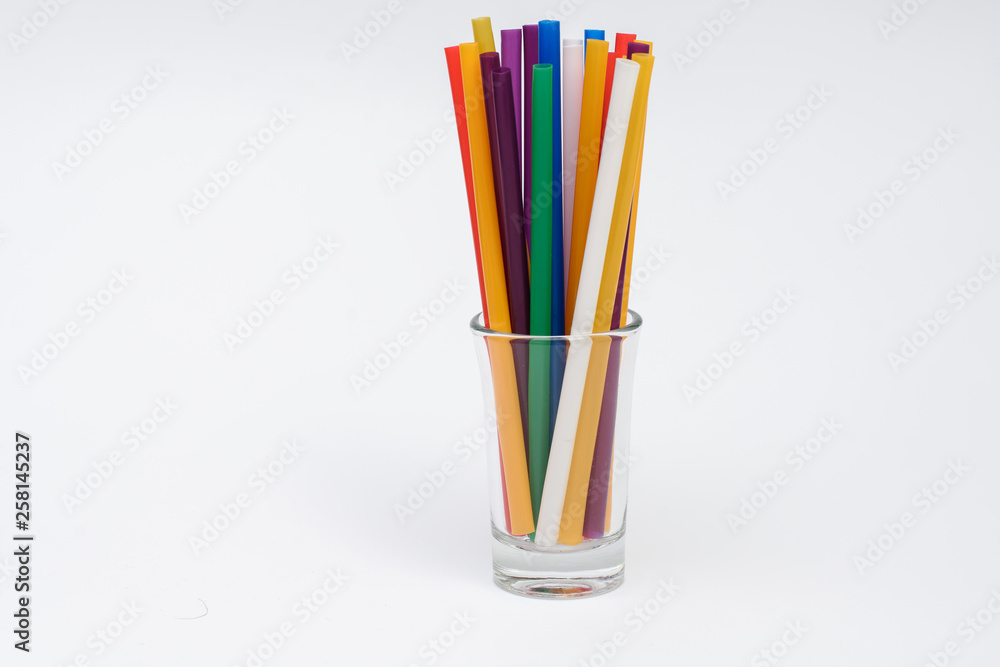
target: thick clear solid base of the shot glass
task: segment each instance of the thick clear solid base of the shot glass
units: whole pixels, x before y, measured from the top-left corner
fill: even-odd
[[[575,546],[541,547],[493,527],[493,581],[533,598],[592,597],[625,581],[625,527],[613,535]]]

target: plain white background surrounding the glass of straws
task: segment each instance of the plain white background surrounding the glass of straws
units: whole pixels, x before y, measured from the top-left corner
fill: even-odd
[[[244,0],[220,16],[212,0],[75,0],[15,49],[9,33],[40,10],[4,3],[0,537],[15,532],[22,430],[37,539],[30,655],[11,646],[13,547],[0,550],[3,663],[255,664],[248,651],[289,623],[264,664],[601,665],[597,645],[621,632],[608,664],[760,665],[798,622],[789,667],[916,667],[951,640],[948,664],[995,665],[1000,619],[971,642],[959,626],[1000,590],[1000,281],[973,280],[961,308],[953,290],[1000,252],[1000,6],[910,0],[885,33],[890,0],[407,0],[345,56],[386,7]],[[703,22],[724,9],[732,21],[709,38]],[[484,417],[442,51],[471,40],[473,16],[491,14],[499,37],[547,11],[564,12],[565,37],[654,42],[636,267],[670,256],[632,299],[646,325],[626,582],[566,603],[493,585],[485,457],[455,449]],[[701,32],[708,45],[678,63]],[[121,118],[112,105],[147,67],[167,74]],[[776,124],[814,86],[829,100],[785,136]],[[274,109],[294,119],[247,161],[241,142]],[[59,178],[53,163],[104,118],[113,132]],[[948,128],[957,139],[912,180],[908,161]],[[718,183],[769,138],[777,152],[723,200]],[[180,205],[230,160],[240,172],[186,222]],[[903,194],[852,242],[845,224],[894,179]],[[293,290],[283,276],[320,237],[339,247]],[[86,321],[79,304],[122,269],[129,284]],[[449,281],[457,301],[418,324]],[[230,350],[224,335],[276,289],[283,303]],[[778,290],[794,305],[751,341],[742,327]],[[938,310],[947,321],[894,369],[889,353]],[[23,379],[70,323],[78,335]],[[356,391],[351,376],[400,334],[410,344]],[[684,385],[734,341],[744,354],[688,400]],[[131,451],[123,434],[158,399],[176,410]],[[786,454],[824,418],[843,426],[795,469]],[[251,485],[286,440],[304,451]],[[68,508],[115,450],[121,465]],[[401,523],[394,505],[446,462],[454,474]],[[968,471],[915,504],[949,462]],[[734,530],[727,516],[776,471],[787,483]],[[196,553],[190,538],[244,493]],[[915,525],[859,565],[904,512]],[[296,614],[338,569],[343,587]],[[676,595],[656,602],[671,580]],[[135,622],[98,640],[132,603]],[[473,620],[452,637],[456,614]]]

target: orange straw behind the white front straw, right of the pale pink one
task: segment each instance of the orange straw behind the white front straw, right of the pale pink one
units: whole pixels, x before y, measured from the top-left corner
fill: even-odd
[[[583,101],[580,114],[580,141],[577,145],[576,189],[573,203],[573,239],[570,243],[569,280],[566,283],[566,327],[573,322],[573,308],[580,284],[583,250],[594,205],[594,186],[601,151],[601,110],[604,108],[604,63],[608,43],[590,40],[590,58],[584,66]]]

